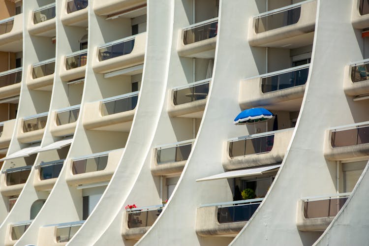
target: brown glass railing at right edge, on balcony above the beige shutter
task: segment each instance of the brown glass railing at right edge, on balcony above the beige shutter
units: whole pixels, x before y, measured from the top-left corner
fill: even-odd
[[[333,148],[367,143],[369,143],[369,123],[359,123],[353,127],[332,130],[331,144]]]

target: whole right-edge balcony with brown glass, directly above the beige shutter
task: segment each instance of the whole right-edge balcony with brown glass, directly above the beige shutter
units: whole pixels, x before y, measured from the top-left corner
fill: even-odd
[[[345,160],[369,155],[369,122],[333,127],[326,131],[324,156]]]

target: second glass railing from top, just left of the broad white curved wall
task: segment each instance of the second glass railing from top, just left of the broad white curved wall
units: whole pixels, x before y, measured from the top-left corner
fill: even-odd
[[[101,100],[101,115],[113,115],[136,108],[139,92],[131,92]]]

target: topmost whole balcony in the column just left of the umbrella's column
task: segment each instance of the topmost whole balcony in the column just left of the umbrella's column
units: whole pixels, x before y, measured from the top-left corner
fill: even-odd
[[[192,58],[214,58],[217,31],[217,17],[184,28],[178,39],[178,55]]]

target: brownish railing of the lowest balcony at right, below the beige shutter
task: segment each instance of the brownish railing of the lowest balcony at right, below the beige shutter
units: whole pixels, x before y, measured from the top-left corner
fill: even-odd
[[[305,218],[335,217],[351,193],[303,198]]]

